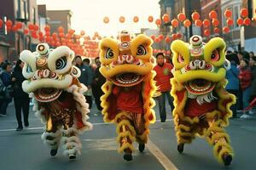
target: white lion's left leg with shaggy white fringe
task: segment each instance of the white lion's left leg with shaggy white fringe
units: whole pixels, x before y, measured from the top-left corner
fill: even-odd
[[[61,130],[58,129],[57,123],[52,122],[51,117],[48,116],[46,129],[42,134],[44,144],[48,144],[50,147],[50,156],[55,156],[61,141]]]

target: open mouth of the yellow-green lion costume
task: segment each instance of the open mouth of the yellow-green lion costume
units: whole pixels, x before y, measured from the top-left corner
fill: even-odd
[[[195,79],[186,82],[184,85],[190,94],[202,95],[212,92],[216,83],[207,81],[205,79]]]

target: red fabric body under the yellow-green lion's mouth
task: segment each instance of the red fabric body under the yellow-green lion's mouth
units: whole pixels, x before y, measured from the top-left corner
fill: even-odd
[[[203,103],[199,105],[196,99],[188,99],[185,106],[184,114],[186,116],[201,116],[207,112],[217,110],[217,102],[212,101],[211,103]]]

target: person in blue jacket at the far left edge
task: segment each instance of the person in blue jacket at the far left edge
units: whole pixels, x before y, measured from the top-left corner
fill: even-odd
[[[8,108],[9,103],[12,101],[11,94],[9,90],[11,89],[11,71],[12,65],[9,62],[4,62],[2,65],[2,73],[0,78],[3,82],[4,86],[4,94],[2,93],[0,99],[0,116],[6,116],[6,111]]]

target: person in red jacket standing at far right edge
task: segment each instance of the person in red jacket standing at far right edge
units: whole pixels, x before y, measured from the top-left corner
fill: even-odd
[[[252,84],[252,71],[249,67],[249,58],[244,57],[241,59],[240,72],[239,72],[240,85],[242,90],[242,107],[247,108],[251,98],[251,84]],[[241,118],[249,118],[244,111]]]

